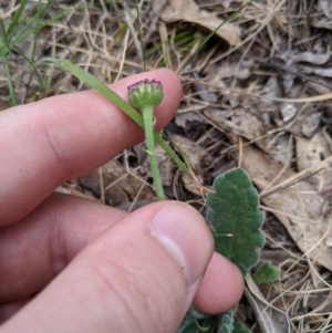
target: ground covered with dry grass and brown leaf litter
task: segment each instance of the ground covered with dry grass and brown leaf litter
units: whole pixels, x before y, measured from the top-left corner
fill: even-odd
[[[12,2],[2,1],[6,27],[17,11]],[[247,281],[237,316],[255,332],[271,332],[269,321],[284,320],[294,332],[332,332],[332,2],[255,0],[206,41],[243,3],[53,1],[13,44],[31,62],[68,59],[105,83],[173,69],[184,98],[166,136],[206,188],[235,166],[249,173],[266,212],[261,260],[281,269],[260,291]],[[22,27],[37,8],[28,1]],[[14,101],[9,83],[19,104],[86,89],[56,67],[37,69],[41,85],[20,52],[0,55],[1,110]],[[168,198],[205,214],[197,186],[162,149],[158,158]],[[60,190],[125,210],[156,199],[142,145]],[[260,327],[259,313],[267,314]]]

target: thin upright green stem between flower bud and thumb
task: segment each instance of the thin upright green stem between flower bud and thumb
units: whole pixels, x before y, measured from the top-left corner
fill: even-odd
[[[142,114],[143,114],[144,129],[145,129],[145,142],[147,147],[147,154],[149,157],[151,170],[155,183],[156,194],[159,200],[165,200],[162,178],[158,170],[158,162],[155,153],[154,107],[145,106],[142,110]]]

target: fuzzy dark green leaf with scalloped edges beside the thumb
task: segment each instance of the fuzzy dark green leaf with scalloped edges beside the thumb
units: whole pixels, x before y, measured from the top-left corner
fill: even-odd
[[[214,188],[216,192],[208,194],[206,205],[216,251],[236,263],[246,275],[258,262],[257,249],[264,243],[257,190],[241,168],[217,177]]]

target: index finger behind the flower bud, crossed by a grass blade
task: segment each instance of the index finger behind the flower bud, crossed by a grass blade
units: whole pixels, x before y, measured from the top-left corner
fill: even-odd
[[[156,127],[174,116],[181,86],[160,69],[123,79],[111,87],[127,97],[127,86],[159,80],[165,97]],[[21,219],[60,184],[106,163],[144,138],[143,129],[95,91],[45,98],[0,113],[0,226]]]

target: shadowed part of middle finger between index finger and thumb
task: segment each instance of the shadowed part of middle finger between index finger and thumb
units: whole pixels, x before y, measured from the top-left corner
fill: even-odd
[[[0,303],[43,289],[95,237],[127,212],[53,194],[0,232]]]

